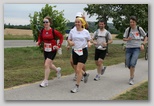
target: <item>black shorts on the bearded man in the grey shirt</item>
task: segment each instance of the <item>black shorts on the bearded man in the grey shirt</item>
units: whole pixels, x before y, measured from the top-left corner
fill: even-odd
[[[104,60],[105,56],[106,56],[106,50],[95,49],[95,60],[98,60],[99,58]]]

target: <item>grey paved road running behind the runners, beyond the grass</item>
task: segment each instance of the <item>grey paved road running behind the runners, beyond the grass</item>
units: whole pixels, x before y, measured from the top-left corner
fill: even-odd
[[[122,44],[122,40],[114,40],[113,44]],[[66,45],[66,41],[64,40],[63,45]],[[31,47],[36,46],[36,42],[33,40],[4,40],[4,48],[11,47]]]

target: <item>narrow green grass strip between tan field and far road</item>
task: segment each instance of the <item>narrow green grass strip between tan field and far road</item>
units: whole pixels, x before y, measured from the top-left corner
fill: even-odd
[[[4,35],[4,40],[33,40],[33,36],[29,35]]]

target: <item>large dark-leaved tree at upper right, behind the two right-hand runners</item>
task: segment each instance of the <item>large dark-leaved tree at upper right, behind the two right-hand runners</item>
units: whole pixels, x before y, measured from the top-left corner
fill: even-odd
[[[138,18],[138,25],[148,31],[148,4],[88,4],[84,10],[90,15],[96,15],[97,20],[103,19],[107,23],[113,18],[115,28],[123,33],[129,27],[129,18]],[[108,29],[108,28],[107,28]]]

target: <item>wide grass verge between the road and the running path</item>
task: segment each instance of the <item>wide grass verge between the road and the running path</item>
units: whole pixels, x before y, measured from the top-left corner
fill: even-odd
[[[62,75],[74,73],[70,66],[70,53],[62,47],[63,55],[56,55],[54,64],[63,68]],[[89,50],[89,57],[86,62],[86,69],[96,68],[94,61],[94,47]],[[114,65],[124,62],[125,56],[120,44],[109,45],[109,56],[105,58],[104,65]],[[141,52],[140,57],[144,57]],[[42,80],[44,77],[44,57],[38,47],[4,48],[4,88],[21,84],[33,83]],[[51,71],[49,79],[56,77]]]

